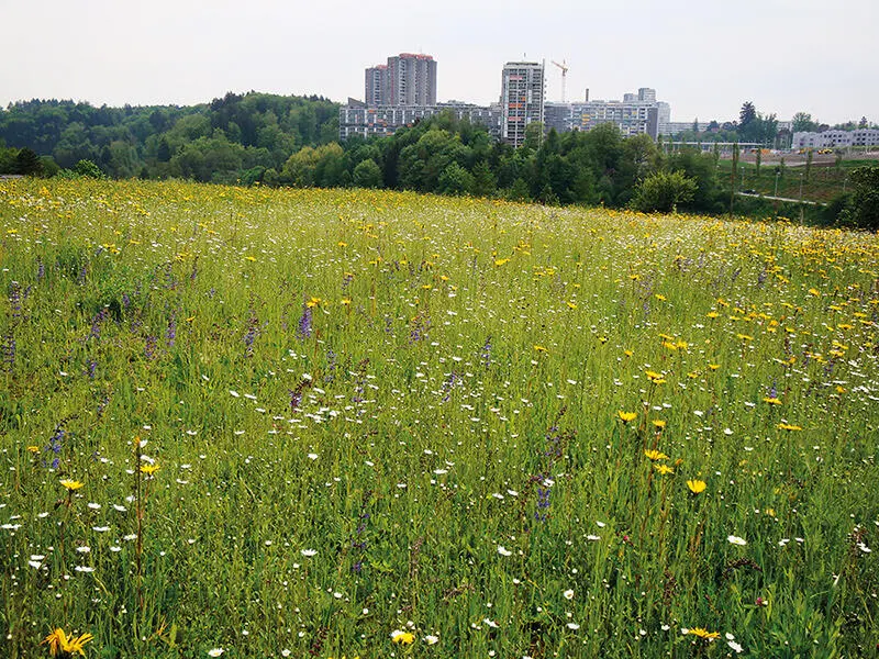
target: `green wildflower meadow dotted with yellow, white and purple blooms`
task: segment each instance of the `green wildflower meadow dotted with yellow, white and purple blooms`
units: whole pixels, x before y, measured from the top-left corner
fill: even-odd
[[[0,261],[4,656],[876,651],[876,235],[25,180]]]

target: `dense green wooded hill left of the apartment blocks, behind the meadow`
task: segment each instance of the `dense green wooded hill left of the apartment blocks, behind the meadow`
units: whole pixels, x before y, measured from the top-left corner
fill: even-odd
[[[87,160],[111,178],[253,182],[337,135],[338,104],[322,97],[227,93],[207,104],[136,108],[33,100],[0,111],[0,147],[8,145],[0,167],[13,172],[10,159],[26,148],[49,175]]]

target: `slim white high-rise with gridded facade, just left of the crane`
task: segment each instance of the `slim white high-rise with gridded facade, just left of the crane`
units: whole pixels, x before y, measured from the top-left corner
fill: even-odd
[[[501,138],[520,146],[525,129],[543,122],[544,67],[536,62],[508,62],[501,78]]]

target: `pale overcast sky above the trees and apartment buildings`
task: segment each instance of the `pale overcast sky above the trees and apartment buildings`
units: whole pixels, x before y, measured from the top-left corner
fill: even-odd
[[[0,107],[32,98],[193,104],[248,90],[363,99],[364,69],[437,60],[438,100],[487,104],[505,62],[546,60],[547,100],[653,87],[672,121],[750,100],[879,123],[877,0],[0,0]],[[872,34],[871,34],[872,33]]]

